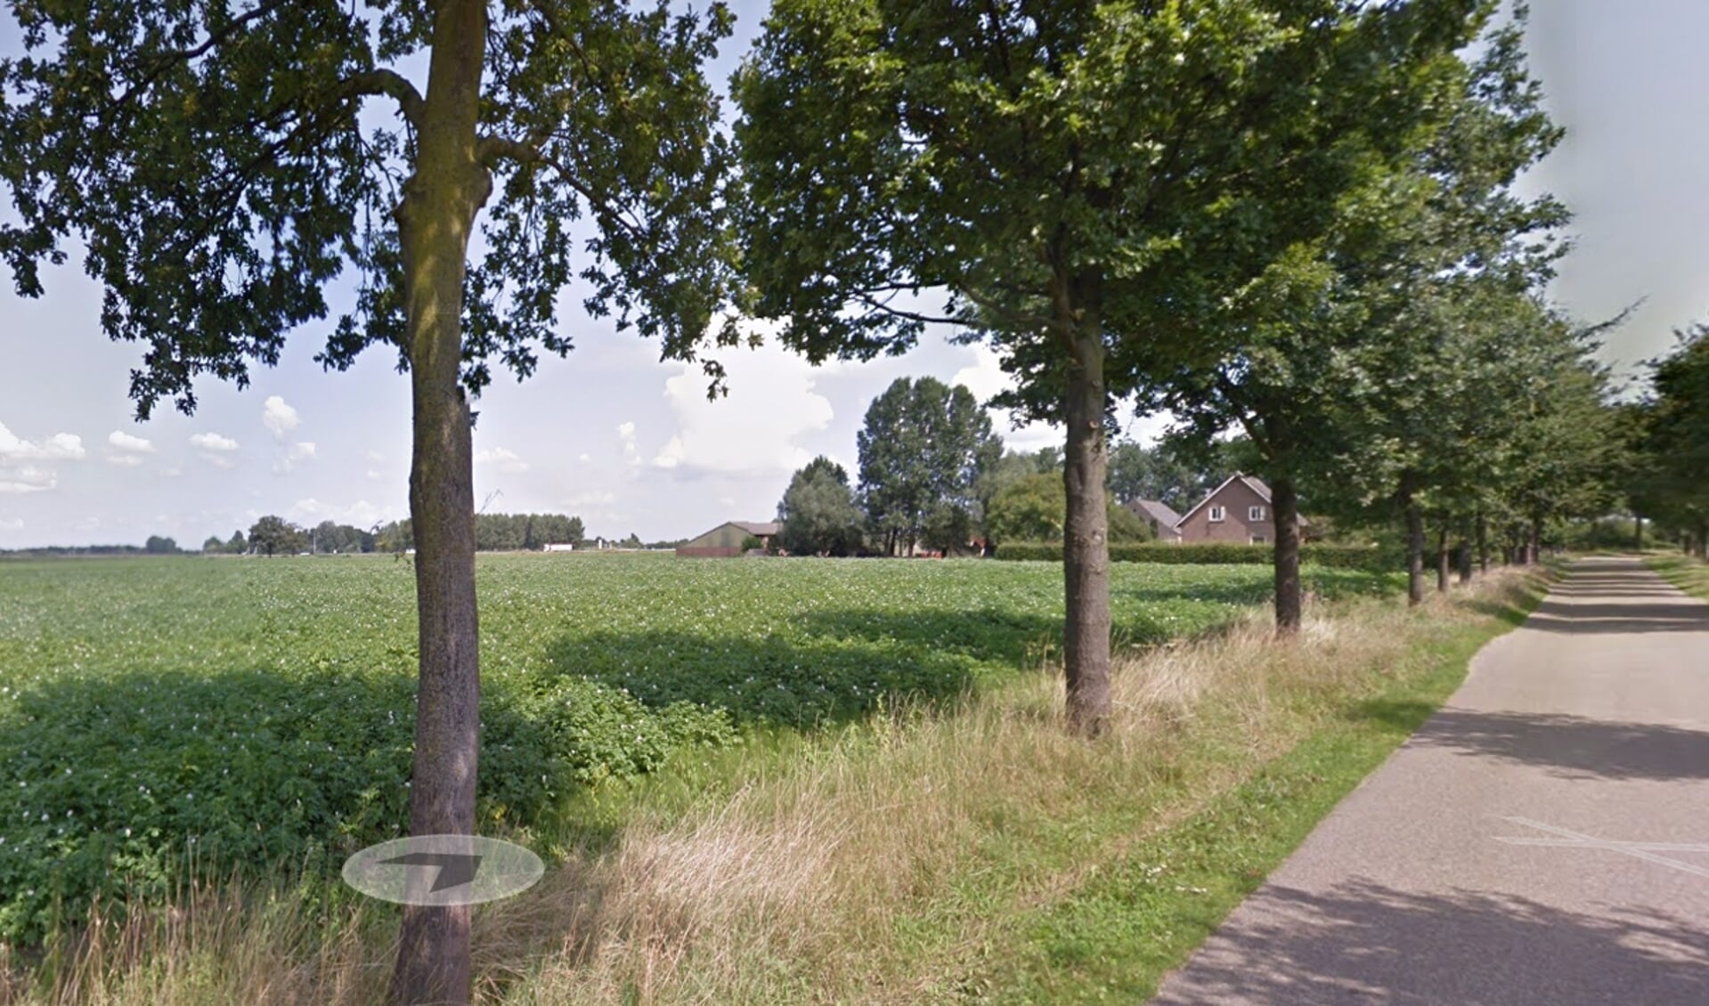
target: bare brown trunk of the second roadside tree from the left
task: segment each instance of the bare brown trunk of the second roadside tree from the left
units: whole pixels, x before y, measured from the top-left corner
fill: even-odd
[[[1068,494],[1063,528],[1063,663],[1068,676],[1068,724],[1075,733],[1095,736],[1104,729],[1111,709],[1104,333],[1095,280],[1075,287],[1080,295],[1068,301],[1066,309],[1058,307],[1058,319],[1072,331],[1073,343],[1063,401],[1068,424],[1068,453],[1063,458],[1063,485]],[[1065,304],[1066,297],[1058,292],[1056,301]]]

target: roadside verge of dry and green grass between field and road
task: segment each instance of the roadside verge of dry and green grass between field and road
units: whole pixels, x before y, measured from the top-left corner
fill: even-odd
[[[955,709],[696,755],[602,787],[526,895],[477,914],[484,1003],[1135,1001],[1535,601],[1499,574],[1408,611],[1265,613],[1128,656],[1097,743],[1049,668]],[[1506,617],[1504,617],[1506,615]],[[386,907],[208,885],[0,1003],[373,1003]],[[7,962],[0,960],[0,972]],[[10,989],[10,991],[7,991]]]

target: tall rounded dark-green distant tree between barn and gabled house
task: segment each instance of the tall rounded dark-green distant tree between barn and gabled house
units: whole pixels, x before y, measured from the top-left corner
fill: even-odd
[[[887,555],[926,538],[935,548],[972,538],[979,475],[1003,444],[967,388],[897,377],[866,408],[854,444],[861,504]]]

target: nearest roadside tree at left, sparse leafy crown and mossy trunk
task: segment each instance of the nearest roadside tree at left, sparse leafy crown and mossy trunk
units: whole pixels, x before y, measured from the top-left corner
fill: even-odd
[[[492,362],[564,354],[557,292],[588,289],[692,360],[726,290],[726,161],[701,75],[730,32],[615,0],[12,3],[0,63],[0,256],[21,294],[77,236],[103,328],[145,343],[138,417],[248,383],[285,335],[355,302],[320,360],[391,347],[414,401],[420,687],[410,832],[470,833],[479,760],[470,398]],[[407,75],[426,67],[426,89]],[[361,111],[385,99],[398,125]],[[492,203],[489,207],[489,202]],[[484,256],[468,261],[477,219]],[[573,222],[586,219],[578,229]],[[708,362],[714,379],[721,374]],[[470,996],[468,907],[407,907],[391,997]]]

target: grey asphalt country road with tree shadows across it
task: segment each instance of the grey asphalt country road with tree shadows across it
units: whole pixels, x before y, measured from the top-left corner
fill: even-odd
[[[1709,1006],[1709,605],[1576,564],[1154,1003]]]

